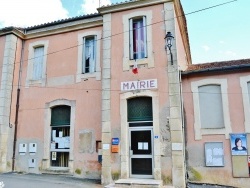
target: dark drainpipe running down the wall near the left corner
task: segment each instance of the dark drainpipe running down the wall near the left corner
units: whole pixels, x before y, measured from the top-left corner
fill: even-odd
[[[25,33],[25,31],[24,31]],[[12,172],[15,171],[15,158],[16,158],[16,140],[17,140],[17,126],[18,126],[18,112],[19,112],[19,99],[20,99],[20,87],[21,87],[21,75],[22,75],[22,64],[23,64],[23,53],[24,53],[24,39],[22,40],[22,50],[20,57],[18,86],[17,86],[17,99],[16,99],[16,115],[15,115],[15,127],[14,127],[14,142],[13,142],[13,157],[12,157]]]

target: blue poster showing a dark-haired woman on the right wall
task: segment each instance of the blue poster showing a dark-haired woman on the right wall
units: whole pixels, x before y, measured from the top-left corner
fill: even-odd
[[[247,135],[230,134],[232,155],[247,155]]]

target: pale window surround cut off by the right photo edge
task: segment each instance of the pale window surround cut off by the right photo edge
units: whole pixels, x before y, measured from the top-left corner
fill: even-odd
[[[249,76],[242,76],[240,77],[240,86],[242,89],[242,100],[243,100],[243,109],[245,115],[245,132],[250,132],[250,101],[248,92],[247,83],[250,82],[250,75]]]

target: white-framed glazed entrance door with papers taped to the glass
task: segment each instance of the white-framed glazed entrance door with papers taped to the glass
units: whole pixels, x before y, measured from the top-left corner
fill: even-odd
[[[153,178],[152,128],[130,128],[130,177]]]

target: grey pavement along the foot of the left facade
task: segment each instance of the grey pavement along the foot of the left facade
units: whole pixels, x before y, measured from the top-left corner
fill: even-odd
[[[1,186],[3,182],[4,186]],[[101,188],[99,180],[85,180],[65,175],[0,174],[0,188]]]

